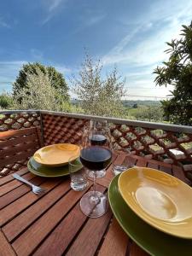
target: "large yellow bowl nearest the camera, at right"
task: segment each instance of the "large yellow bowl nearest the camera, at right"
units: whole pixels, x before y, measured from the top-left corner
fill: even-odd
[[[148,224],[192,238],[192,189],[187,184],[164,172],[133,167],[121,173],[118,185],[127,205]]]

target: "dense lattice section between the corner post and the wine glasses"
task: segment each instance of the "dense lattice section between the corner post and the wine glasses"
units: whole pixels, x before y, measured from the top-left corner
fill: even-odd
[[[89,120],[42,114],[42,122],[44,127],[44,145],[55,143],[79,144],[84,125],[87,125]]]

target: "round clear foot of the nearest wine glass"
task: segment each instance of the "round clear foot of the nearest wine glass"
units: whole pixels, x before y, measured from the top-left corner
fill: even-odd
[[[96,191],[96,194],[90,191],[81,198],[80,209],[84,215],[98,218],[108,211],[108,197],[99,191]]]

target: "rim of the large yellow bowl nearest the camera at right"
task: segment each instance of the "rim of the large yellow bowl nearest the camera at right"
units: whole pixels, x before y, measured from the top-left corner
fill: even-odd
[[[157,169],[154,169],[154,168],[140,167],[140,166],[132,167],[132,168],[126,170],[125,172],[128,173],[128,172],[130,172],[131,170],[135,170],[136,168],[139,168],[139,169],[149,169],[149,170],[152,170],[152,171],[154,171],[154,172],[160,172],[160,173],[162,172],[162,171],[157,170]],[[164,233],[166,233],[166,234],[168,234],[168,235],[171,235],[171,236],[175,236],[175,237],[178,237],[178,238],[183,238],[183,239],[192,240],[192,234],[191,234],[190,236],[183,236],[183,235],[180,236],[179,234],[177,235],[177,234],[175,234],[175,233],[170,232],[170,231],[168,230],[168,227],[167,227],[166,230],[165,230],[164,228],[160,228],[160,226],[159,226],[158,224],[154,224],[154,223],[153,223],[153,218],[155,218],[155,217],[151,216],[150,214],[148,214],[148,212],[145,212],[145,211],[143,210],[146,214],[148,214],[149,218],[152,218],[152,221],[150,221],[150,220],[148,220],[148,218],[144,218],[144,217],[143,217],[143,214],[139,214],[139,213],[134,209],[134,207],[132,207],[130,204],[128,204],[128,202],[127,202],[127,200],[125,199],[125,196],[123,195],[123,193],[122,193],[122,191],[121,191],[121,188],[120,188],[120,186],[119,186],[120,178],[122,178],[122,177],[125,175],[125,174],[124,174],[125,172],[122,172],[122,173],[119,174],[118,187],[119,187],[119,193],[120,193],[120,195],[122,196],[122,198],[124,199],[125,203],[128,205],[128,207],[130,207],[131,210],[132,210],[133,212],[135,212],[139,218],[142,218],[143,221],[145,221],[146,223],[148,223],[149,225],[151,225],[153,228],[155,228],[155,229],[157,229],[157,230],[160,230],[161,232],[164,232]],[[176,179],[179,183],[183,183],[183,181],[180,180],[180,179],[178,179],[177,177],[174,177],[174,176],[172,176],[172,175],[170,175],[170,174],[168,174],[168,173],[166,173],[166,172],[162,172],[162,173],[163,173],[164,175],[167,175],[168,177],[172,177],[173,179]],[[191,189],[191,187],[190,187],[187,183],[183,183],[183,184],[184,184],[184,186],[189,187],[189,189]],[[192,216],[191,216],[190,218],[187,218],[187,219],[192,219]],[[163,221],[163,220],[162,220],[162,221]],[[168,224],[168,223],[166,223],[166,224]]]

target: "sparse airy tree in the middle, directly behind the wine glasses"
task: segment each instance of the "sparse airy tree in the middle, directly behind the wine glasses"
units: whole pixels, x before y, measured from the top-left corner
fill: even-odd
[[[79,78],[73,76],[71,82],[84,113],[102,116],[123,115],[121,98],[125,95],[125,80],[121,81],[116,68],[106,79],[102,79],[101,62],[94,63],[90,55],[85,55]]]

